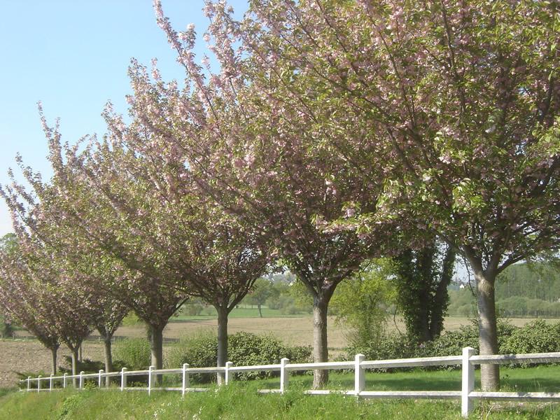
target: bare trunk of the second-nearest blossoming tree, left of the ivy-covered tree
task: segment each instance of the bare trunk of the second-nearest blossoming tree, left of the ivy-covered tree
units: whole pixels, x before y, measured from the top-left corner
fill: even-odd
[[[328,362],[327,346],[327,308],[328,299],[314,297],[313,300],[313,361]],[[313,388],[318,389],[328,382],[328,370],[315,370]]]

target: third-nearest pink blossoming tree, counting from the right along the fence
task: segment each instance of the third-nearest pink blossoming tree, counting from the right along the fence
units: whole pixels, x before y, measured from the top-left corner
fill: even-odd
[[[137,63],[130,76],[133,122],[125,127],[120,116],[106,113],[111,146],[92,153],[86,166],[96,169],[90,179],[97,186],[103,185],[113,202],[126,200],[136,203],[131,209],[141,207],[140,214],[136,211],[132,215],[137,223],[150,218],[151,223],[142,228],[143,235],[152,235],[148,240],[165,249],[162,262],[178,273],[168,284],[179,292],[202,297],[216,308],[217,362],[222,366],[228,356],[228,315],[265,273],[271,247],[260,232],[229,217],[197,187],[183,149],[160,130],[167,117],[163,104],[169,98],[157,70],[153,71],[154,85],[149,83],[146,69]],[[134,187],[109,190],[106,181],[116,179],[123,170],[134,174]],[[145,189],[138,191],[140,184]],[[135,251],[131,248],[130,252]]]

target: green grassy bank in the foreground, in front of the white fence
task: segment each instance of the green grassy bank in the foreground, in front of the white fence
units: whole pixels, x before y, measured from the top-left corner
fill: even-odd
[[[0,398],[0,419],[461,419],[458,402],[357,401],[343,395],[258,395],[254,384],[216,392],[178,393],[73,391],[11,393]],[[472,419],[560,419],[552,405],[485,405]]]

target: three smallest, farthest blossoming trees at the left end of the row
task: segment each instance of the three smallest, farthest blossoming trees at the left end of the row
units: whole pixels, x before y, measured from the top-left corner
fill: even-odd
[[[94,328],[104,341],[105,367],[111,372],[111,339],[128,309],[94,290],[96,283],[72,264],[34,235],[20,231],[18,240],[8,237],[0,253],[1,307],[10,321],[25,325],[51,351],[53,373],[59,346],[65,344],[76,374],[78,350]]]

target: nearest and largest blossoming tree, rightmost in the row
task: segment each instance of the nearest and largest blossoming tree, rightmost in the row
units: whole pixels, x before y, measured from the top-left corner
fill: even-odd
[[[480,350],[496,353],[497,274],[559,245],[558,4],[251,4],[229,25],[265,79],[304,78],[307,90],[284,90],[290,103],[324,92],[332,124],[369,121],[389,150],[391,181],[358,230],[406,215],[447,241],[475,274]],[[497,366],[483,365],[482,384],[498,388]]]

